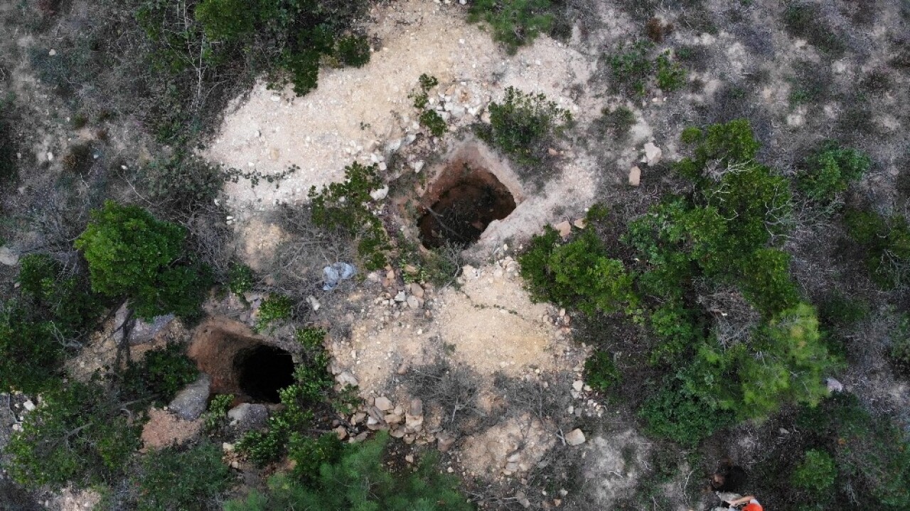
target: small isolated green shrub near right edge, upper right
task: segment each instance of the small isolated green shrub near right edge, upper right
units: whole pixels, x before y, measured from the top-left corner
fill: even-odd
[[[872,160],[862,151],[828,142],[805,162],[805,171],[797,176],[797,185],[809,199],[829,205],[863,177]]]

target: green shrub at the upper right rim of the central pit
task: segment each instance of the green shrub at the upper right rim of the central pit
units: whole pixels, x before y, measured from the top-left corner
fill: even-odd
[[[571,114],[542,94],[531,95],[515,87],[506,89],[502,103],[491,102],[490,125],[478,135],[523,165],[541,162],[551,138],[571,123]]]

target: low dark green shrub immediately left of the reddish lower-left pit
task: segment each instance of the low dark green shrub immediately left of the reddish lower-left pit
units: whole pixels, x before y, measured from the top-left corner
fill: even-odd
[[[181,388],[196,381],[199,370],[184,352],[185,347],[168,343],[148,351],[139,362],[130,360],[122,383],[126,397],[130,400],[154,397],[157,403],[167,403]]]

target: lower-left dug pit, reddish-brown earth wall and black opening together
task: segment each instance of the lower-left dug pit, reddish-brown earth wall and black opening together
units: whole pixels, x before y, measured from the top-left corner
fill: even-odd
[[[236,321],[215,318],[199,326],[188,355],[211,376],[212,394],[278,403],[278,390],[294,383],[292,356],[264,343]]]

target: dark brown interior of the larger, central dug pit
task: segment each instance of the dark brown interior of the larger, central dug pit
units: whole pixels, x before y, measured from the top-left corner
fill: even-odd
[[[505,218],[515,209],[515,199],[495,175],[486,169],[460,166],[460,178],[443,188],[433,205],[424,206],[420,240],[427,248],[471,245],[490,222]],[[446,176],[440,177],[442,180],[448,181]]]

